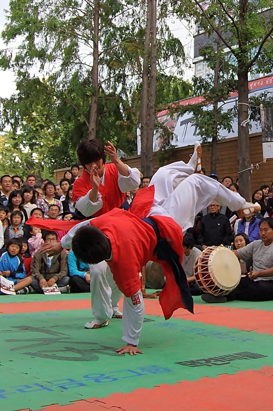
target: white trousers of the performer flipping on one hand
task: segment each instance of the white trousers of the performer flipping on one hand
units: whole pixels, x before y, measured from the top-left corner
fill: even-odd
[[[193,172],[193,167],[183,161],[161,167],[150,182],[150,185],[155,185],[155,198],[148,217],[172,217],[185,232],[194,226],[195,216],[214,200],[232,211],[245,206],[246,201],[239,193],[228,190],[210,177]]]

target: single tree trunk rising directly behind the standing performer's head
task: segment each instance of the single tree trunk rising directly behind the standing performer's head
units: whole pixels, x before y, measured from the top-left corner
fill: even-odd
[[[92,68],[92,96],[90,104],[88,138],[96,138],[98,119],[98,35],[99,35],[99,0],[94,7],[94,39],[93,39],[93,68]]]

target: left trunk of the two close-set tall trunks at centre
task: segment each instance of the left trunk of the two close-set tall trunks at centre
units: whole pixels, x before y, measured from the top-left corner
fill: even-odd
[[[143,71],[142,71],[142,86],[141,86],[141,111],[140,111],[140,141],[141,141],[141,172],[143,176],[148,176],[146,173],[146,152],[147,147],[147,128],[148,128],[148,85],[149,85],[149,65],[148,59],[150,56],[150,35],[151,35],[151,6],[152,1],[148,0],[147,17],[144,40],[143,54]],[[153,150],[153,148],[152,148]]]

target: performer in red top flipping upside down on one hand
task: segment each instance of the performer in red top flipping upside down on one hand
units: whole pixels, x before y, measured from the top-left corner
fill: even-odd
[[[258,211],[258,206],[247,203],[218,181],[193,174],[201,167],[200,157],[201,147],[196,143],[188,164],[179,161],[161,167],[149,188],[139,190],[131,213],[113,209],[74,226],[62,238],[61,244],[43,246],[43,252],[49,253],[72,246],[75,256],[89,264],[107,261],[115,283],[125,296],[122,340],[127,345],[119,348],[119,353],[133,355],[141,352],[137,348],[144,317],[140,268],[149,260],[162,265],[166,285],[160,293],[159,303],[165,319],[180,307],[193,312],[192,296],[181,266],[182,231],[192,227],[195,215],[214,199],[232,211],[242,210],[245,215],[250,210]],[[71,221],[29,221],[36,227],[47,229],[59,229],[60,225],[66,225],[64,229],[68,229],[73,224]]]

